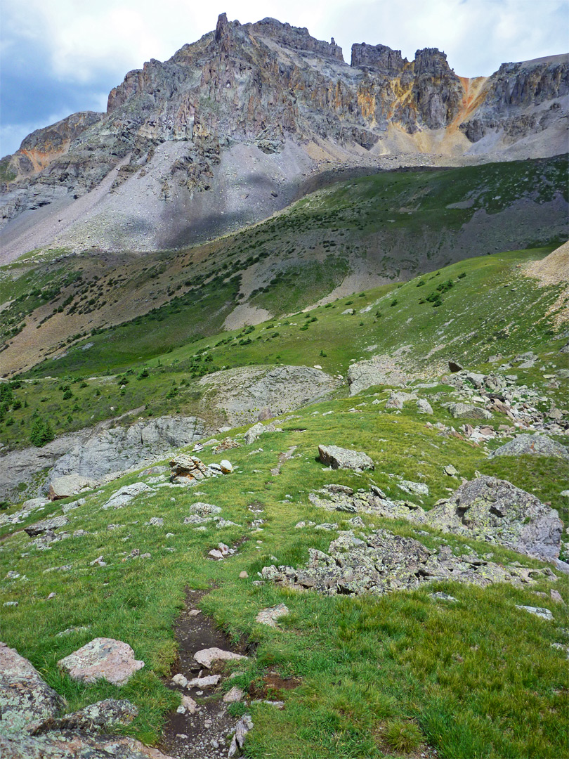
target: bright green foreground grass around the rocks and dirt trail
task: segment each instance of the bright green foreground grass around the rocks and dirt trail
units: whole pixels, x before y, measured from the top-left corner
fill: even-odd
[[[445,410],[428,395],[436,390],[424,392],[432,399],[435,419],[447,421]],[[387,392],[379,392],[379,397]],[[564,653],[551,644],[567,644],[563,629],[569,618],[567,606],[549,600],[549,587],[557,587],[567,602],[564,581],[485,590],[447,582],[380,599],[322,598],[251,584],[263,565],[275,561],[272,557],[278,564],[298,565],[306,561],[309,547],[327,550],[334,534],[295,530],[298,520],[319,523],[331,521],[332,516],[340,528],[347,528],[340,512],[329,515],[308,502],[310,490],[324,483],[366,487],[375,482],[398,497],[401,491],[389,474],[426,481],[430,493],[424,505],[429,507],[459,483],[442,471],[451,462],[461,477],[473,477],[477,469],[507,475],[519,484],[525,481],[518,477],[529,479],[532,490],[542,497],[561,489],[558,478],[563,467],[557,461],[539,461],[539,465],[528,461],[525,471],[513,470],[508,461],[489,461],[478,447],[425,427],[425,417],[414,405],[401,414],[377,411],[371,403],[377,395],[370,390],[298,411],[294,420],[283,424],[284,433],[266,434],[252,446],[232,450],[231,461],[239,471],[200,483],[202,496],[194,496],[191,489],[164,489],[118,512],[100,511],[99,505],[112,491],[140,479],[130,475],[98,490],[70,512],[68,531],[81,528],[89,531],[87,536],[69,537],[39,552],[30,548],[26,534],[17,531],[2,543],[0,575],[11,569],[27,579],[0,581],[0,600],[20,604],[4,609],[2,639],[32,660],[68,698],[70,710],[99,698],[130,698],[140,707],[140,716],[125,732],[152,742],[159,737],[165,711],[176,704],[159,678],[168,675],[175,659],[171,626],[183,603],[184,586],[213,585],[202,602],[203,610],[235,638],[247,635],[258,644],[250,666],[235,682],[259,684],[269,670],[301,679],[299,688],[285,694],[284,710],[263,704],[251,707],[256,730],[247,748],[250,757],[398,756],[388,729],[401,721],[418,727],[413,745],[428,742],[448,759],[561,756],[567,745],[567,667]],[[360,413],[349,411],[354,404]],[[327,411],[333,413],[323,416]],[[375,472],[360,476],[329,471],[315,461],[319,442],[366,450],[379,465]],[[259,443],[262,452],[250,455]],[[293,445],[297,446],[294,458],[285,463],[279,477],[271,476],[278,452]],[[206,451],[202,458],[219,461],[225,455]],[[241,526],[194,532],[183,518],[196,498],[221,505],[223,516]],[[247,528],[258,516],[248,510],[251,503],[265,509],[262,532]],[[60,509],[61,503],[52,504],[46,515],[61,513]],[[162,516],[164,526],[146,527],[151,516]],[[417,536],[432,547],[444,539],[458,553],[476,550],[483,555],[490,550],[498,561],[520,558],[496,546],[442,538],[436,531],[419,535],[405,522],[364,519],[370,527]],[[118,528],[109,531],[110,521]],[[167,533],[174,537],[167,538]],[[247,539],[237,556],[218,563],[206,559],[218,540],[231,545],[241,537]],[[123,561],[133,548],[152,556]],[[91,567],[101,554],[108,565]],[[540,565],[530,559],[522,562]],[[64,565],[71,569],[46,572]],[[250,579],[240,580],[241,570]],[[435,590],[452,594],[458,603],[433,602],[429,592]],[[538,597],[534,591],[545,591],[548,597]],[[51,592],[57,594],[55,599],[46,600]],[[259,609],[283,602],[291,615],[281,630],[256,624]],[[546,606],[555,622],[536,619],[516,609],[516,604]],[[81,625],[90,629],[56,637],[61,630]],[[122,688],[78,685],[61,676],[58,659],[96,636],[127,641],[146,666]]]

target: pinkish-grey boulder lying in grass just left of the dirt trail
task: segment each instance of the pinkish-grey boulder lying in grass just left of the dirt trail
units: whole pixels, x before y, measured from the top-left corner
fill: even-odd
[[[112,685],[124,685],[144,662],[134,658],[134,651],[114,638],[95,638],[90,643],[58,661],[72,680],[96,682],[105,679]]]

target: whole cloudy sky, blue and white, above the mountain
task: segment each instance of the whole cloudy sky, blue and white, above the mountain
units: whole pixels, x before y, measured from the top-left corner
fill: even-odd
[[[567,0],[0,0],[0,154],[76,111],[105,110],[108,91],[149,58],[165,60],[215,28],[266,16],[352,43],[382,43],[413,58],[438,47],[461,76],[504,61],[567,52]]]

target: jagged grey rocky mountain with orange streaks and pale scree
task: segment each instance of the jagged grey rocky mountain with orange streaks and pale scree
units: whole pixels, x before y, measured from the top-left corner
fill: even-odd
[[[2,159],[5,255],[86,241],[178,247],[269,216],[323,164],[512,151],[519,140],[528,155],[558,153],[568,80],[562,56],[503,65],[476,87],[438,49],[407,61],[354,45],[347,65],[333,39],[222,14],[168,61],[130,71],[106,114],[70,116]]]

